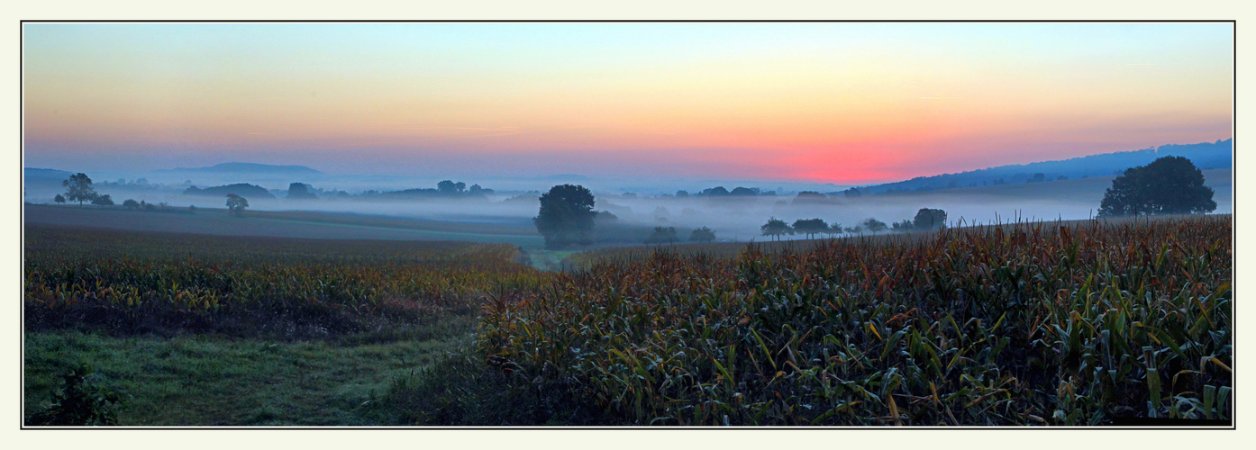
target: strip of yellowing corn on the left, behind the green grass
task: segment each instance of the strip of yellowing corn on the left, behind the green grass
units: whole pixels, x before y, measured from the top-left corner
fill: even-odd
[[[311,241],[26,228],[29,305],[187,313],[264,303],[352,313],[461,307],[546,276],[509,244]],[[138,312],[137,312],[138,313]]]

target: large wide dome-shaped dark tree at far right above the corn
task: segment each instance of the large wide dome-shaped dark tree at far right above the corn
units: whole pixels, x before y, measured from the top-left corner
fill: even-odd
[[[1125,169],[1099,203],[1099,217],[1202,214],[1217,209],[1203,172],[1183,157],[1163,157]]]

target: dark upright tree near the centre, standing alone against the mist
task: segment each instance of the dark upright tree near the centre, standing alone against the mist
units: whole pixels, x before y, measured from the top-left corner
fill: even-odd
[[[569,243],[590,243],[593,231],[593,193],[583,186],[563,184],[550,188],[540,197],[540,213],[533,218],[536,231],[545,237],[550,248]]]

